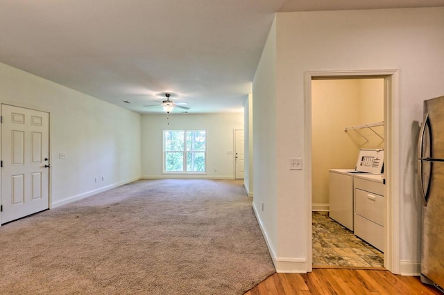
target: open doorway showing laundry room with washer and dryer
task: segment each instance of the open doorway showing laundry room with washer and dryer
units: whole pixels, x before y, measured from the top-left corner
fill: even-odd
[[[384,154],[386,93],[382,76],[311,80],[313,267],[384,267],[384,170],[354,172]]]

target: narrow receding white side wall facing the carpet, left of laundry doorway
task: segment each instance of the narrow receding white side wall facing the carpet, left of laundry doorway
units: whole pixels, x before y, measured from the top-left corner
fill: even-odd
[[[275,29],[274,20],[253,80],[253,209],[273,261],[278,243]]]

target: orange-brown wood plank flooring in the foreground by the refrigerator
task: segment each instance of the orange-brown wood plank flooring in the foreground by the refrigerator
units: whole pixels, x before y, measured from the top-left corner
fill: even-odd
[[[244,295],[271,294],[441,294],[416,276],[386,270],[313,269],[308,274],[273,274]]]

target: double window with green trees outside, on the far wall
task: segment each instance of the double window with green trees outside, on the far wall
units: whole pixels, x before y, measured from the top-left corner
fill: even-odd
[[[205,130],[164,130],[164,172],[205,172]]]

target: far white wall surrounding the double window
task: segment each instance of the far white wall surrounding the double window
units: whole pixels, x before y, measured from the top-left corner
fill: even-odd
[[[162,175],[162,131],[166,129],[207,130],[205,175]],[[234,129],[244,129],[244,114],[143,115],[142,178],[234,179]]]

